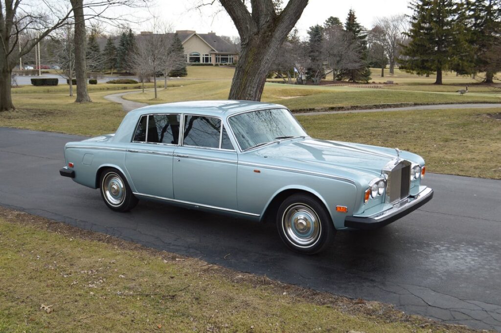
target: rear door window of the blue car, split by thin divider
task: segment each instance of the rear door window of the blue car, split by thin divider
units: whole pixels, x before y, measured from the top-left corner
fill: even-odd
[[[180,115],[143,116],[137,126],[134,141],[177,145],[180,118]]]

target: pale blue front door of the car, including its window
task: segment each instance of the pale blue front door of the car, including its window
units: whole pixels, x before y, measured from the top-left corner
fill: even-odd
[[[237,161],[219,118],[185,115],[182,146],[174,151],[174,198],[236,210]]]

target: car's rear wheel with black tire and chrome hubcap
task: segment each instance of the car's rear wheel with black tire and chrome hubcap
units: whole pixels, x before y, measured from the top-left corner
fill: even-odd
[[[112,168],[104,170],[99,184],[104,203],[112,210],[125,212],[136,206],[138,200],[120,171]]]

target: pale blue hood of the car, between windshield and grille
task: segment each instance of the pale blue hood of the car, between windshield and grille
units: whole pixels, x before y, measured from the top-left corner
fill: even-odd
[[[312,138],[273,143],[255,150],[254,155],[261,163],[365,180],[381,175],[388,162],[397,157],[391,148]],[[419,156],[412,153],[401,152],[400,157],[420,162]]]

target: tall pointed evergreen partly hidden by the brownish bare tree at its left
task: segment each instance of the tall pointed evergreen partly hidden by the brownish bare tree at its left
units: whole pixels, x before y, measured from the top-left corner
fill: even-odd
[[[371,70],[367,59],[367,34],[365,34],[362,26],[357,22],[357,17],[355,16],[355,12],[353,10],[350,10],[348,12],[348,17],[346,18],[345,23],[345,31],[353,35],[355,41],[360,44],[359,52],[362,65],[356,69],[341,71],[341,73],[339,74],[339,79],[347,79],[353,82],[369,82],[369,80],[371,79]]]

